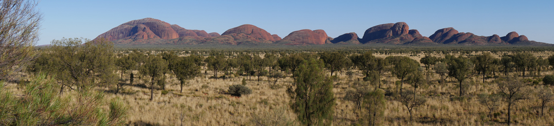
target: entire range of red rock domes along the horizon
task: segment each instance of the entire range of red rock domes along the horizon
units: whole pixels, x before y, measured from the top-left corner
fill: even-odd
[[[454,28],[435,31],[429,37],[419,34],[416,29],[409,29],[407,23],[389,23],[375,25],[365,31],[363,38],[356,33],[346,33],[337,38],[327,36],[325,30],[297,30],[281,39],[276,34],[251,24],[240,25],[225,31],[223,34],[207,33],[204,30],[191,30],[162,20],[144,18],[131,20],[112,28],[96,37],[106,38],[116,45],[322,45],[322,44],[460,44],[460,45],[550,45],[531,41],[525,35],[515,31],[506,36],[479,36],[473,33],[459,33]]]

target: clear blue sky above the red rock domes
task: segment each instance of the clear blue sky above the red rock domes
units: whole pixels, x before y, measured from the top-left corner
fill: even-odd
[[[301,29],[327,35],[363,32],[375,25],[406,22],[430,36],[453,27],[460,32],[505,36],[510,31],[530,40],[554,43],[554,1],[65,1],[44,0],[37,45],[54,39],[88,38],[131,20],[156,18],[185,29],[222,34],[252,24],[284,38]]]

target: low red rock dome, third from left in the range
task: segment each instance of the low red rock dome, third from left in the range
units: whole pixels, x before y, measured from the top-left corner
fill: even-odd
[[[325,44],[327,33],[324,30],[302,29],[286,35],[281,41],[292,41],[293,44]]]

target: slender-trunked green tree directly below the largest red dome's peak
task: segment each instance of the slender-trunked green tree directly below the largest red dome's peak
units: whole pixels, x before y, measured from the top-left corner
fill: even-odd
[[[167,71],[167,62],[160,56],[150,55],[145,64],[141,67],[140,72],[142,75],[150,77],[150,101],[154,99],[154,82],[162,80],[163,71]]]

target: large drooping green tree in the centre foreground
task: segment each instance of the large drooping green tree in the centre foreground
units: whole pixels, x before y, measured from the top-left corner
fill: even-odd
[[[332,122],[335,106],[333,84],[329,77],[325,77],[323,67],[320,60],[310,58],[294,73],[296,88],[290,94],[291,108],[302,124],[330,125]]]

